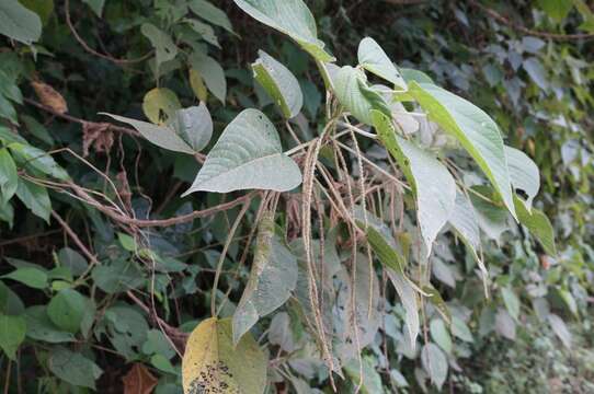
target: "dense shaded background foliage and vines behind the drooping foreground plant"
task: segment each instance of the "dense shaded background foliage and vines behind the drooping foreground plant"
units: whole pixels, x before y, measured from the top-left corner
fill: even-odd
[[[221,316],[231,316],[241,298],[258,206],[243,204],[251,194],[242,200],[235,199],[241,194],[212,193],[181,198],[204,155],[162,150],[99,113],[146,119],[147,103],[173,100],[189,107],[202,101],[216,137],[248,107],[282,125],[249,67],[263,49],[297,77],[304,107],[292,125],[309,140],[324,125],[323,82],[305,51],[232,1],[21,0],[38,15],[38,38],[4,31],[10,21],[25,18],[13,13],[13,3],[0,4],[0,34],[11,36],[0,36],[3,195],[11,187],[2,177],[10,165],[5,155],[19,174],[15,197],[0,198],[2,389],[179,393],[186,333],[210,316],[212,302],[222,305]],[[445,382],[423,359],[421,346],[407,345],[404,309],[378,268],[385,296],[379,331],[361,350],[361,360],[345,363],[339,392],[355,391],[361,374],[359,389],[367,393],[594,392],[592,4],[307,4],[318,36],[341,65],[355,63],[359,40],[370,36],[399,67],[422,70],[490,114],[505,143],[527,153],[540,170],[534,205],[547,213],[557,239],[557,253],[548,253],[507,216],[482,218],[487,299],[469,251],[450,234],[439,235],[431,282],[453,324],[446,326],[429,309],[419,344],[434,344],[432,358],[446,360]],[[175,97],[147,99],[156,88]],[[160,114],[153,115],[157,123]],[[433,137],[427,131],[421,140]],[[287,136],[283,142],[295,146]],[[452,148],[452,141],[425,142]],[[377,147],[362,142],[361,149],[376,162],[386,161]],[[54,160],[44,155],[47,160],[32,164],[44,151]],[[460,159],[449,150],[447,155]],[[346,159],[356,174],[356,158]],[[469,183],[478,176],[462,172]],[[410,195],[398,196],[414,206]],[[209,207],[218,208],[205,213]],[[279,208],[279,227],[293,240],[292,209],[297,208],[290,199]],[[196,210],[202,213],[192,213]],[[221,258],[243,213],[248,219]],[[174,217],[187,220],[168,221]],[[344,248],[339,242],[332,252],[339,265]],[[212,300],[219,259],[222,275]],[[289,300],[252,329],[270,359],[271,393],[332,390],[300,313]]]

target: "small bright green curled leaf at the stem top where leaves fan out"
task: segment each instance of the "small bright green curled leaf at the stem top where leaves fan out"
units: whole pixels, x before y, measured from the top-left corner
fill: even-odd
[[[332,83],[341,104],[359,121],[372,125],[372,109],[390,116],[388,104],[377,91],[367,86],[363,71],[344,66],[336,73]]]

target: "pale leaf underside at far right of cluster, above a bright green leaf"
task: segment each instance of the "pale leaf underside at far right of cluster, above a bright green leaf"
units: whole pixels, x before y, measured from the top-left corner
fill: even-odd
[[[523,151],[505,147],[512,186],[526,193],[526,206],[530,210],[534,197],[540,188],[540,173],[535,162]]]

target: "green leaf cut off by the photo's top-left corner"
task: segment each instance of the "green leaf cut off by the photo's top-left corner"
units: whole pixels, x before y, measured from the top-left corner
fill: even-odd
[[[42,35],[39,16],[16,0],[0,1],[0,34],[30,45]]]

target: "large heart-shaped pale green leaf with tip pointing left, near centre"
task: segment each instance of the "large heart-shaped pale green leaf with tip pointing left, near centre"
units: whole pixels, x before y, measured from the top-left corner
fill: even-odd
[[[283,153],[274,125],[260,111],[244,109],[225,128],[182,196],[252,188],[287,192],[300,183],[299,167]]]

